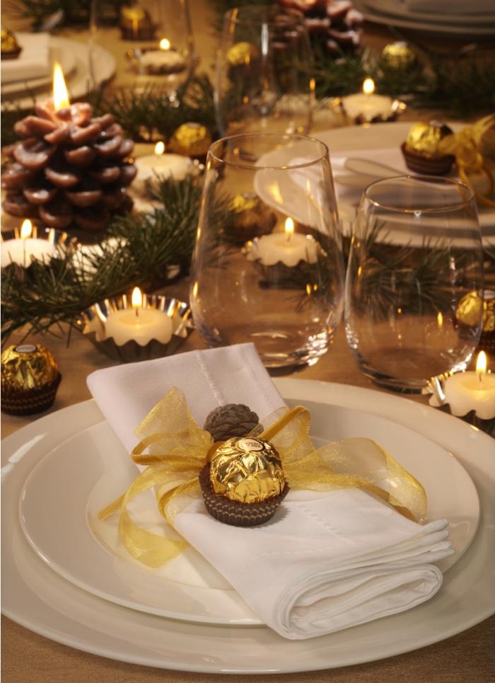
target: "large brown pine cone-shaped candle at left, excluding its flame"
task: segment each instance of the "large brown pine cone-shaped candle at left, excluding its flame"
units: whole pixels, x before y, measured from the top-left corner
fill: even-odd
[[[1,174],[7,213],[91,232],[103,230],[115,212],[132,208],[126,189],[136,167],[126,160],[134,142],[112,114],[93,118],[88,103],[55,111],[47,101],[14,130],[22,139],[10,149],[12,160]]]

